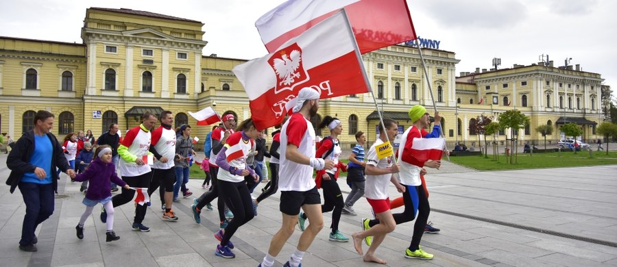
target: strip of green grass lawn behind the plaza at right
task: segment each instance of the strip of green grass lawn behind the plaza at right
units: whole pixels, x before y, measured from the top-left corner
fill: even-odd
[[[534,153],[518,154],[517,164],[506,163],[505,155],[499,155],[499,160],[493,160],[493,155],[488,158],[482,156],[450,157],[450,161],[476,170],[517,170],[525,168],[557,168],[572,166],[595,166],[617,164],[617,151],[611,151],[606,155],[605,151],[593,151],[593,157],[589,157],[589,151],[559,153]]]

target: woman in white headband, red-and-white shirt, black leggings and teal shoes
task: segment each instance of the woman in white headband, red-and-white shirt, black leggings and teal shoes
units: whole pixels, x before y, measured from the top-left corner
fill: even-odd
[[[326,136],[319,145],[319,149],[315,153],[315,157],[321,157],[324,160],[332,160],[334,167],[317,171],[317,177],[315,177],[315,183],[317,188],[324,189],[324,205],[322,205],[322,212],[332,212],[332,225],[330,225],[330,241],[348,242],[349,238],[343,236],[343,233],[339,231],[339,221],[341,220],[341,212],[343,212],[343,194],[341,188],[337,183],[339,177],[339,171],[347,170],[347,166],[342,162],[339,162],[339,156],[341,155],[341,146],[339,145],[339,139],[337,137],[343,132],[343,125],[338,118],[332,118],[326,116],[322,123],[319,124],[319,128],[328,127],[330,129],[330,136]],[[304,231],[304,222],[307,217],[304,212],[300,212],[298,216],[298,225],[300,230]]]

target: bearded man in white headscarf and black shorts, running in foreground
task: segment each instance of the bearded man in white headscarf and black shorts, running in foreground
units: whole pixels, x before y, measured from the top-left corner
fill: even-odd
[[[312,88],[303,88],[298,93],[293,115],[282,126],[278,180],[282,225],[270,241],[268,253],[261,263],[263,267],[274,264],[274,257],[280,253],[282,246],[293,233],[300,207],[309,218],[310,224],[302,232],[295,252],[284,266],[300,266],[304,253],[324,227],[322,198],[313,181],[313,170],[330,169],[334,167],[334,162],[315,157],[315,129],[309,118],[315,116],[317,110],[319,92]]]

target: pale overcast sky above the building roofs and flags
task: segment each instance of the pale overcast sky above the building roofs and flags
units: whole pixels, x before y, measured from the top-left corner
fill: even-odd
[[[204,55],[252,59],[267,53],[256,19],[282,0],[0,0],[0,36],[82,42],[86,8],[130,8],[204,23]],[[457,76],[476,67],[529,65],[548,54],[555,66],[581,64],[617,91],[617,1],[407,0],[418,36],[456,53]],[[614,93],[614,95],[616,95]]]

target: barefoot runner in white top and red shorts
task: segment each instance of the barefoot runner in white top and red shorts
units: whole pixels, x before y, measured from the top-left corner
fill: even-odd
[[[365,262],[376,262],[379,264],[387,264],[385,260],[380,259],[374,255],[377,247],[383,242],[387,233],[394,231],[396,227],[396,221],[390,211],[390,199],[388,197],[389,183],[393,183],[396,186],[398,192],[404,192],[405,188],[402,186],[393,173],[398,173],[399,164],[392,164],[392,156],[383,157],[379,159],[377,156],[377,148],[380,147],[384,140],[394,140],[396,133],[398,132],[398,125],[396,121],[389,118],[383,120],[385,125],[385,131],[381,125],[379,125],[379,138],[369,149],[366,155],[366,188],[365,196],[368,203],[373,208],[374,212],[379,216],[380,223],[367,229],[363,226],[365,231],[352,234],[354,240],[354,248],[359,254],[362,253],[362,240],[373,236],[372,243],[366,254],[364,255]],[[368,219],[363,219],[363,225]],[[368,242],[367,242],[368,243]]]

